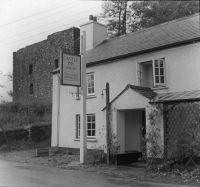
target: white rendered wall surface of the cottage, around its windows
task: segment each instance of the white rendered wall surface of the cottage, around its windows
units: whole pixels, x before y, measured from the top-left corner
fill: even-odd
[[[145,55],[126,58],[115,61],[109,64],[96,65],[87,68],[87,72],[94,72],[95,74],[95,97],[87,99],[87,113],[96,114],[97,137],[96,142],[88,142],[88,147],[101,147],[105,144],[105,125],[106,115],[102,109],[106,105],[105,92],[102,96],[102,90],[105,89],[106,82],[110,84],[110,98],[111,100],[117,96],[127,84],[138,84],[137,63],[152,60],[152,58],[166,59],[166,73],[167,73],[167,88],[162,90],[155,90],[156,92],[173,92],[184,90],[195,90],[200,88],[200,43],[176,47],[157,52],[152,52]],[[54,75],[55,76],[55,75]],[[54,81],[53,89],[56,88],[56,81]],[[81,101],[76,100],[76,89],[68,86],[61,86],[61,112],[60,112],[60,146],[63,147],[79,147],[79,142],[75,140],[75,115],[81,113]],[[129,104],[118,102],[117,109],[133,108],[134,101],[131,93],[127,92],[126,99]],[[53,97],[54,98],[54,97]],[[142,108],[144,103],[140,99],[136,99]],[[53,101],[56,105],[56,99]],[[146,103],[148,100],[146,99]],[[120,106],[120,107],[119,107]],[[116,111],[113,108],[112,111]],[[145,108],[146,109],[146,108]],[[113,115],[113,124],[116,126],[116,114]],[[56,118],[56,111],[53,110],[53,131]],[[148,125],[148,122],[147,122]],[[53,132],[52,139],[55,137]],[[55,142],[52,140],[52,142]]]

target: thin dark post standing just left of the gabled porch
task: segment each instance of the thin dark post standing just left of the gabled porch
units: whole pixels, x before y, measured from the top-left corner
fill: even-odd
[[[106,83],[106,143],[107,143],[107,164],[110,164],[110,88]]]

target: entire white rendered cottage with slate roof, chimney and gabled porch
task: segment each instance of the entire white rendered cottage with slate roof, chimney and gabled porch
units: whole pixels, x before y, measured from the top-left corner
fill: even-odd
[[[111,39],[107,39],[106,27],[96,21],[80,26],[81,33],[86,31],[89,149],[105,150],[106,82],[120,153],[142,150],[145,131],[141,129],[148,131],[151,101],[200,97],[199,20],[195,14]],[[59,69],[55,70],[52,146],[80,146],[82,102],[75,93],[76,87],[59,84]],[[162,121],[160,144],[164,145]]]

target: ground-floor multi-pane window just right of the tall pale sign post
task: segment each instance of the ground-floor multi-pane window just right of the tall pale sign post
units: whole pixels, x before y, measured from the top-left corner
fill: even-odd
[[[95,114],[87,115],[87,136],[94,137],[96,133]]]

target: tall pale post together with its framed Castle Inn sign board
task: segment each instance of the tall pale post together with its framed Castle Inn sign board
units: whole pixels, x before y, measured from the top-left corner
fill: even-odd
[[[68,86],[82,86],[82,123],[80,123],[80,163],[85,163],[87,154],[86,132],[86,34],[81,36],[81,56],[61,54],[61,84]],[[82,65],[82,68],[81,68]]]

